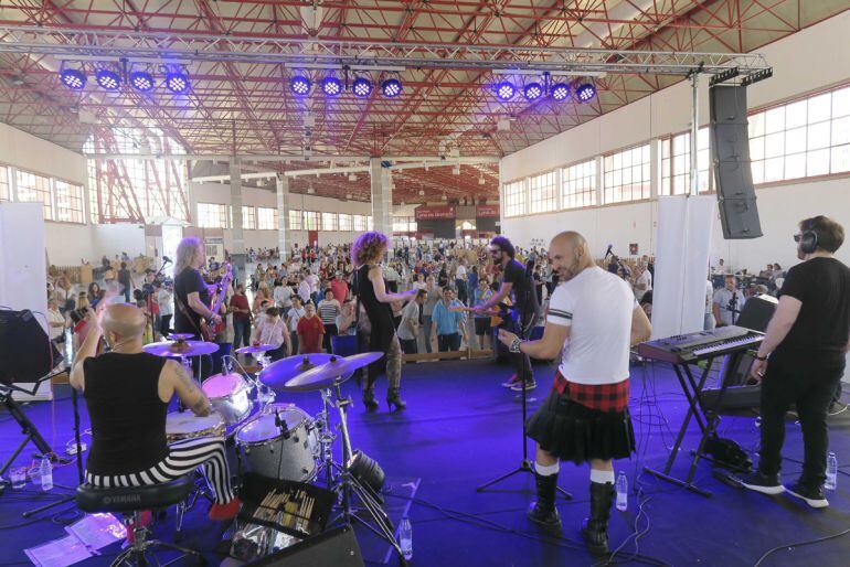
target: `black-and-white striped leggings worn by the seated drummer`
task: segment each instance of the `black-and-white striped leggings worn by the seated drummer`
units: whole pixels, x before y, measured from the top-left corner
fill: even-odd
[[[224,440],[213,437],[199,437],[170,445],[168,456],[147,470],[129,474],[92,474],[86,472],[86,480],[93,486],[102,489],[147,486],[179,479],[201,466],[203,466],[206,484],[215,495],[215,503],[226,504],[233,500],[231,474],[224,456]]]

